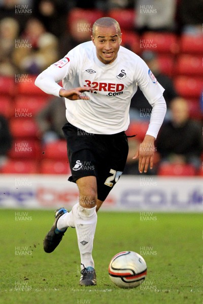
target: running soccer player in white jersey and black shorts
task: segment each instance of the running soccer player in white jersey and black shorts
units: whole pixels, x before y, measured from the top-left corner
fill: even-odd
[[[127,154],[130,99],[137,85],[152,105],[143,142],[134,159],[139,171],[153,167],[154,141],[163,122],[164,89],[145,62],[120,46],[119,23],[104,17],[95,21],[90,42],[78,45],[44,70],[35,84],[48,94],[65,97],[67,123],[63,132],[79,203],[71,212],[60,208],[45,237],[44,250],[52,252],[67,227],[75,227],[81,256],[80,285],[96,285],[92,258],[97,213],[123,172]],[[62,80],[62,87],[57,83]]]

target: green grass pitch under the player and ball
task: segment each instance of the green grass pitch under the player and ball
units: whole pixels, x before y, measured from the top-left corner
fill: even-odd
[[[25,217],[17,220],[22,212]],[[43,251],[53,220],[53,211],[1,209],[1,304],[202,303],[202,214],[98,212],[93,287],[79,286],[75,229],[67,230],[53,253]],[[148,273],[140,287],[121,289],[109,279],[109,262],[123,250],[146,260]]]

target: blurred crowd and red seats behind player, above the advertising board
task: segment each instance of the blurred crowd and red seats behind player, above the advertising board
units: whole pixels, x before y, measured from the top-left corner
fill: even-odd
[[[66,122],[63,99],[40,96],[37,89],[30,94],[28,91],[36,75],[90,40],[96,19],[110,16],[121,25],[122,45],[141,56],[165,88],[168,110],[156,141],[155,166],[148,174],[203,176],[202,12],[201,0],[0,0],[0,170],[12,173],[17,161],[21,164],[16,165],[19,173],[26,173],[28,161],[35,162],[28,173],[69,170],[59,162],[58,147],[65,147],[61,132]],[[20,75],[22,79],[26,76],[27,83],[20,82]],[[16,92],[9,91],[8,96],[4,87],[12,78]],[[19,86],[24,89],[19,90]],[[35,110],[28,108],[30,98],[39,105]],[[17,118],[8,110],[11,105],[22,111],[24,107],[30,116]],[[138,89],[131,101],[131,123],[126,131],[138,136],[129,140],[125,174],[139,174],[132,156],[144,138],[151,110]],[[19,130],[16,120],[20,121]],[[20,140],[35,141],[39,154],[33,153],[36,148],[31,143],[31,158],[16,153]],[[49,145],[53,149],[53,143],[59,159],[41,154]]]

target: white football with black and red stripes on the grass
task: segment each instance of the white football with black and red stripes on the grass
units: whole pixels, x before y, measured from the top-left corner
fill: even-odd
[[[147,264],[137,252],[122,251],[114,255],[110,261],[110,279],[120,288],[138,287],[146,275]]]

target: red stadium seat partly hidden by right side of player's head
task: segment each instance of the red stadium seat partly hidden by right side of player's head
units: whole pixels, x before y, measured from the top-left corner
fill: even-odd
[[[118,21],[121,32],[123,30],[133,30],[136,20],[136,11],[134,9],[110,9],[108,17]]]

